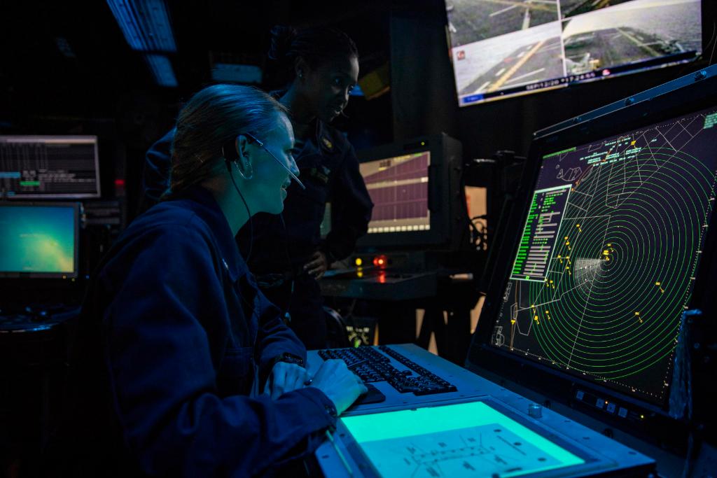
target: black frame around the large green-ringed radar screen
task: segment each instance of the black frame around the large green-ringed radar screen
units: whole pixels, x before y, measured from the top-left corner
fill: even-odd
[[[500,350],[491,345],[490,339],[495,319],[500,313],[503,292],[511,277],[513,258],[520,243],[521,231],[526,222],[543,155],[613,136],[615,135],[613,125],[617,120],[620,121],[621,130],[629,131],[717,105],[717,66],[698,72],[697,75],[688,75],[683,80],[685,81],[670,82],[663,87],[654,88],[650,90],[652,95],[643,96],[639,102],[627,98],[623,102],[624,107],[620,109],[609,110],[601,115],[588,113],[591,116],[589,120],[576,120],[572,125],[569,125],[570,122],[564,122],[562,123],[566,125],[564,128],[548,128],[545,134],[536,135],[526,161],[521,188],[517,195],[517,206],[508,221],[505,239],[495,252],[496,268],[480,317],[480,322],[486,326],[479,326],[473,337],[466,360],[467,367],[483,369],[516,383],[530,382],[538,393],[544,393],[567,403],[574,401],[574,391],[579,387],[599,393],[599,396],[606,399],[612,398],[623,403],[634,404],[640,409],[660,416],[661,419],[668,419],[669,388],[662,403],[652,403],[609,386],[602,386],[597,381],[579,378],[565,371],[542,365],[536,360]],[[710,264],[713,264],[714,258],[717,257],[717,233],[714,231],[717,228],[717,211],[713,212],[710,226],[712,230],[706,236],[703,257],[695,275],[690,308],[699,308],[708,300],[707,279],[713,274]]]

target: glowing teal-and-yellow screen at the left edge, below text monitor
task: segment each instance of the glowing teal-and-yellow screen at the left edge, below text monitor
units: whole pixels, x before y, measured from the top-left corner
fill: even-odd
[[[79,206],[0,203],[0,277],[77,277]]]

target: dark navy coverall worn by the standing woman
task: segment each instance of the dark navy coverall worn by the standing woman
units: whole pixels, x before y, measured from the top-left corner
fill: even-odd
[[[148,203],[158,201],[168,187],[173,138],[170,131],[147,152],[143,181]],[[366,234],[374,204],[359,173],[356,152],[336,128],[316,119],[315,130],[295,153],[295,161],[306,190],[292,183],[282,216],[255,214],[253,240],[247,225],[239,231],[237,242],[245,255],[252,243],[250,269],[267,298],[290,313],[290,326],[306,348],[323,348],[323,300],[318,282],[303,272],[303,264],[316,251],[324,252],[329,263],[351,254],[356,239]],[[332,224],[322,239],[320,225],[327,202]]]

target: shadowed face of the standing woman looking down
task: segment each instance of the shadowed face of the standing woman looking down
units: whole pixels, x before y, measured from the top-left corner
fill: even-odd
[[[359,78],[359,59],[336,58],[324,62],[305,75],[305,95],[315,108],[315,115],[326,123],[341,114],[348,104],[348,94]]]

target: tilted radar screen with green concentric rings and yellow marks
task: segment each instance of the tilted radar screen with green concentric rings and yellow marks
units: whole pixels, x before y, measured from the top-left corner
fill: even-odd
[[[543,156],[491,345],[663,403],[716,144],[713,107]]]

